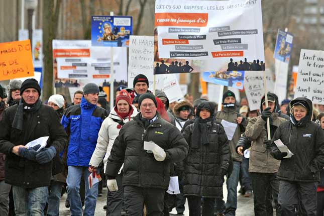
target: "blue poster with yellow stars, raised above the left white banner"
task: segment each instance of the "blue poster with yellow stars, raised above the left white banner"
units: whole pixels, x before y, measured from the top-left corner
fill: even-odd
[[[91,16],[92,46],[128,47],[133,17]]]

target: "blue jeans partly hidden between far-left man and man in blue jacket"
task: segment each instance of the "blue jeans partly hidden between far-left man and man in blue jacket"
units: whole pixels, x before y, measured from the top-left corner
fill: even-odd
[[[51,181],[47,198],[47,216],[60,215],[60,199],[63,185],[63,182]]]

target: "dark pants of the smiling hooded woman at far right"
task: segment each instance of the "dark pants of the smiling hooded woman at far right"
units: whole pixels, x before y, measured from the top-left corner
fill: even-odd
[[[316,182],[280,180],[278,203],[282,216],[316,215]]]

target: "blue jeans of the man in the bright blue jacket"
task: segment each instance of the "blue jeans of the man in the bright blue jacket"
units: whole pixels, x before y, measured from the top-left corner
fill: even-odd
[[[90,175],[88,167],[83,166],[69,166],[67,172],[67,196],[70,201],[71,216],[82,215],[82,203],[79,193],[80,179],[84,175],[85,183],[85,200],[84,200],[84,216],[94,215],[97,195],[98,195],[98,183],[92,185],[89,188],[88,177]]]

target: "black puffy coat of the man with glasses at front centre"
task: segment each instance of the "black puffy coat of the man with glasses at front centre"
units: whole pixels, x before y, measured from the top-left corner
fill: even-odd
[[[188,144],[180,131],[170,123],[157,119],[146,129],[139,113],[126,123],[116,138],[106,166],[108,179],[116,178],[124,163],[123,185],[167,189],[170,181],[170,163],[187,156]],[[155,160],[153,153],[144,150],[144,141],[153,141],[166,152],[164,161]]]

